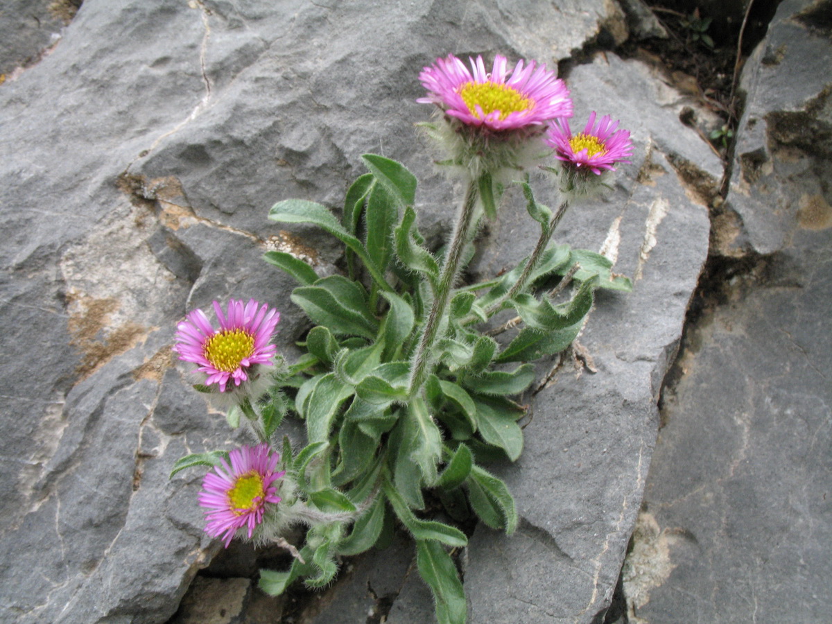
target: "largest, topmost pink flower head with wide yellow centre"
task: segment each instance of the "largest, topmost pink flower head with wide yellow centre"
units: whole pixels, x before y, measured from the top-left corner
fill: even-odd
[[[556,117],[572,116],[566,85],[545,65],[520,60],[507,77],[506,57],[494,57],[490,73],[483,57],[468,60],[471,71],[453,54],[424,67],[419,81],[428,97],[416,102],[436,104],[467,126],[491,131],[543,126]]]

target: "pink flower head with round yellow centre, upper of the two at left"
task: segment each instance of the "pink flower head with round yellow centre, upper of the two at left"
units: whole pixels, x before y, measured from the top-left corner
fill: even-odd
[[[205,384],[219,384],[220,392],[230,379],[239,386],[248,379],[246,371],[255,364],[272,365],[277,347],[270,344],[280,312],[255,300],[243,306],[242,300],[229,300],[228,313],[214,302],[220,329],[215,330],[202,310],[194,310],[176,327],[173,350],[179,359],[198,364],[206,373]]]

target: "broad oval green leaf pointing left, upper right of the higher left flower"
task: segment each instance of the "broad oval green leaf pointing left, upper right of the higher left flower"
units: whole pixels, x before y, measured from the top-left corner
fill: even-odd
[[[343,275],[329,275],[313,286],[300,286],[292,291],[291,300],[314,324],[328,327],[333,334],[374,339],[378,331],[366,291]]]

